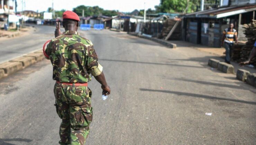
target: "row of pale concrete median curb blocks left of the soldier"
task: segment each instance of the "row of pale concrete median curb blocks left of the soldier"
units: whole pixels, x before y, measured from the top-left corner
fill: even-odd
[[[30,65],[35,64],[38,61],[44,59],[44,54],[42,50],[37,50],[26,54],[25,56],[12,59],[7,62],[0,64],[0,79],[7,77],[19,70],[22,70]]]

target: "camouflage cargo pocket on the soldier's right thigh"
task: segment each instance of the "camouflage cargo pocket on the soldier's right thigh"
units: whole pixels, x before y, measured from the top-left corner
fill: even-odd
[[[74,129],[87,127],[92,122],[92,107],[88,105],[70,107],[70,125]]]

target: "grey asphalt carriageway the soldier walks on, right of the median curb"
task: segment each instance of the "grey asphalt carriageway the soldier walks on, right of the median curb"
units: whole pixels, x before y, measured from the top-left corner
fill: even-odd
[[[86,144],[256,144],[256,89],[208,67],[212,55],[108,30],[81,35],[94,43],[111,87],[102,100],[100,84],[89,83],[94,116]],[[0,145],[57,145],[50,62],[0,86]]]

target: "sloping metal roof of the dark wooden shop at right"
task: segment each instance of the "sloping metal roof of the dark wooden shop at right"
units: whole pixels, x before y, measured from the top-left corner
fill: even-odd
[[[216,8],[204,11],[198,11],[193,13],[185,14],[183,17],[204,17],[204,18],[222,18],[228,17],[235,14],[245,13],[249,11],[255,11],[256,4],[249,4],[244,6],[232,6],[225,8]],[[219,15],[219,17],[218,17]]]

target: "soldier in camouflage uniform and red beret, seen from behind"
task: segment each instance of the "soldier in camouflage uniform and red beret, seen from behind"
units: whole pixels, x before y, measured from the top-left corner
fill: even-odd
[[[101,84],[102,94],[109,95],[102,66],[90,40],[77,33],[79,16],[72,11],[63,13],[63,27],[56,24],[55,37],[45,50],[47,59],[53,65],[55,106],[60,125],[61,145],[83,145],[89,134],[92,121],[91,95],[87,82],[91,76]],[[47,56],[48,55],[48,56]]]

